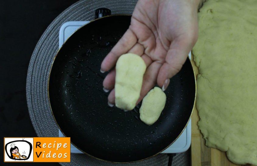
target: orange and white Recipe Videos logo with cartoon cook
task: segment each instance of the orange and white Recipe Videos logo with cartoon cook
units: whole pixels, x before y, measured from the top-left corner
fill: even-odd
[[[4,162],[70,162],[70,137],[5,137]]]

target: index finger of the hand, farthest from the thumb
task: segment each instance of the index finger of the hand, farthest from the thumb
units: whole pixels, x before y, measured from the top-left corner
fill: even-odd
[[[137,42],[136,35],[128,29],[101,64],[101,72],[111,70],[118,58],[128,52]]]

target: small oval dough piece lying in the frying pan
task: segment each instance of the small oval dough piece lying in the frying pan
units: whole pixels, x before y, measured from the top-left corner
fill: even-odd
[[[140,119],[145,124],[152,125],[160,117],[166,103],[166,95],[159,87],[154,87],[143,98],[139,109]]]

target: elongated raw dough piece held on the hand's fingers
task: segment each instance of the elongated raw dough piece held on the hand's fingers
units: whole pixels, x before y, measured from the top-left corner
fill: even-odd
[[[123,110],[136,106],[146,71],[144,60],[132,53],[122,55],[116,64],[115,105]]]

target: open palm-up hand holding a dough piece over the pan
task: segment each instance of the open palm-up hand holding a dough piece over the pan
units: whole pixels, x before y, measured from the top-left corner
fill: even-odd
[[[119,56],[135,53],[147,69],[138,103],[156,83],[163,91],[169,79],[181,69],[198,37],[199,0],[139,0],[125,32],[101,64],[101,71],[111,70]],[[105,91],[112,90],[108,104],[115,102],[115,69],[104,79]]]

